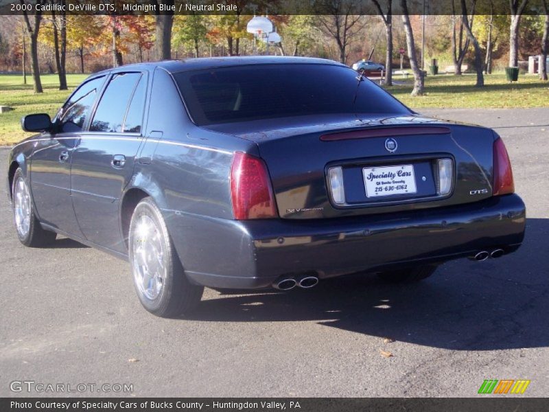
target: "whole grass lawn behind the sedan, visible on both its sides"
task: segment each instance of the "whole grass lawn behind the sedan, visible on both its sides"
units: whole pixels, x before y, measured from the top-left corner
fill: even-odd
[[[32,91],[32,77],[27,76],[28,84],[15,75],[0,75],[0,106],[10,106],[15,110],[0,113],[0,146],[14,144],[30,133],[21,130],[19,121],[30,113],[49,113],[53,116],[67,99],[69,93],[86,78],[84,74],[69,74],[69,91],[58,90],[57,75],[43,75],[43,94]],[[484,76],[486,86],[474,87],[475,75],[439,75],[425,79],[426,94],[412,98],[412,79],[395,76],[400,84],[386,89],[396,98],[412,108],[513,108],[549,107],[549,82],[541,82],[536,76],[519,77],[514,84],[506,82],[504,74]]]

